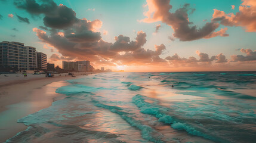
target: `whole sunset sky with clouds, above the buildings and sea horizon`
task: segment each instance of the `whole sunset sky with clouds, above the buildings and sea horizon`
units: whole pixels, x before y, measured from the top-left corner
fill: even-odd
[[[0,41],[125,71],[256,70],[255,0],[0,0]]]

